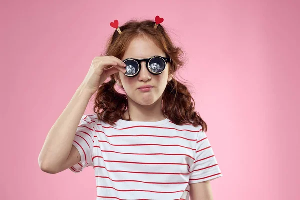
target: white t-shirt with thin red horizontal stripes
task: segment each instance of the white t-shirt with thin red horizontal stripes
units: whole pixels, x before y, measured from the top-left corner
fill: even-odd
[[[83,115],[73,145],[92,166],[98,199],[189,199],[189,184],[221,177],[209,140],[199,125],[118,120],[111,126]]]

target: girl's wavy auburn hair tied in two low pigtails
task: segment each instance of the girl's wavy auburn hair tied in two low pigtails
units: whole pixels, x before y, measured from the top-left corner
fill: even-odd
[[[184,65],[183,51],[176,47],[170,39],[165,28],[160,24],[154,29],[155,21],[152,20],[129,20],[123,26],[119,26],[122,34],[117,30],[108,39],[104,54],[112,55],[121,59],[130,44],[137,37],[151,39],[167,57],[169,62],[169,74],[175,72]],[[110,76],[110,81],[104,82],[95,93],[93,110],[97,113],[98,119],[110,125],[114,125],[119,119],[125,119],[124,112],[128,108],[128,100],[125,94],[119,93],[115,89],[114,76]],[[166,85],[162,94],[163,115],[177,125],[192,124],[197,127],[202,126],[203,131],[207,131],[207,124],[195,111],[195,101],[187,87],[174,77]],[[129,119],[130,120],[130,115]]]

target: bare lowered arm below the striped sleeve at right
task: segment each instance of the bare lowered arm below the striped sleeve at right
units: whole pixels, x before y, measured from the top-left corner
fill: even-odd
[[[191,200],[213,200],[210,181],[190,184]]]

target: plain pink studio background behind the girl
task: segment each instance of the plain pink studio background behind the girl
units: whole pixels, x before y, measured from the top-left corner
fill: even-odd
[[[223,177],[214,199],[299,198],[299,1],[2,0],[0,199],[95,199],[92,168],[42,172],[44,139],[92,59],[131,18],[164,18],[188,57]],[[92,104],[85,113],[91,113]]]

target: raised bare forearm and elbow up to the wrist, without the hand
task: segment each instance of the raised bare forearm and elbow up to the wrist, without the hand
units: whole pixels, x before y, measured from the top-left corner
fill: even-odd
[[[38,157],[41,170],[58,173],[81,160],[72,145],[81,117],[92,96],[82,83],[50,129]]]

